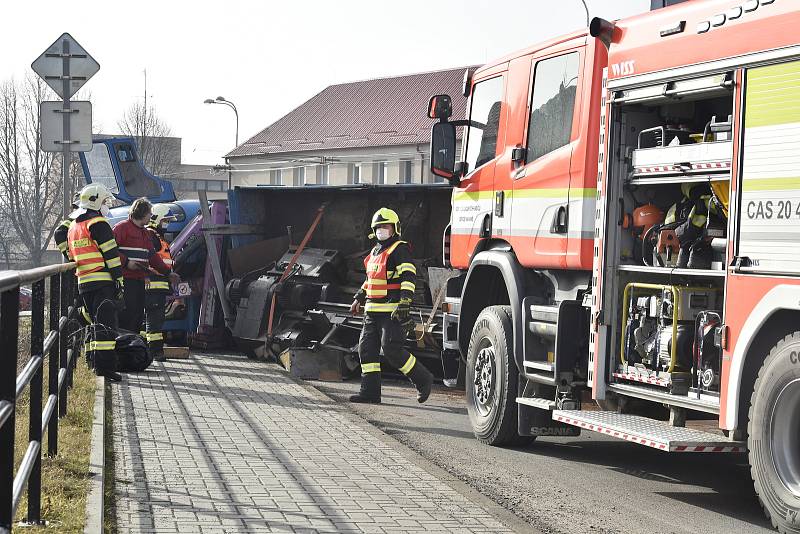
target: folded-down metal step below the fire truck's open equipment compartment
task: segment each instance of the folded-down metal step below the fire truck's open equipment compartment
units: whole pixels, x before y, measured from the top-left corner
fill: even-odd
[[[617,412],[554,410],[553,419],[666,452],[745,452],[743,441]]]

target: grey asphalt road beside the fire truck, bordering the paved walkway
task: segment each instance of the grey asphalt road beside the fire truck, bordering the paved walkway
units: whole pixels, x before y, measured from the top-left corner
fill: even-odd
[[[311,382],[339,401],[357,381]],[[742,454],[667,454],[585,432],[521,448],[482,445],[463,392],[436,387],[427,403],[384,380],[383,404],[350,405],[367,421],[545,533],[773,532]]]

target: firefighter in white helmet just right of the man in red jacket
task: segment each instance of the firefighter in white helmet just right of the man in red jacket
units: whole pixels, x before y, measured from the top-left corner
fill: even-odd
[[[156,204],[153,206],[148,225],[156,254],[161,256],[162,261],[170,269],[172,269],[172,255],[169,252],[169,245],[164,240],[164,232],[169,222],[173,220],[175,220],[175,216],[170,215],[169,206]],[[171,292],[170,285],[177,282],[178,275],[174,272],[163,275],[153,269],[145,279],[144,337],[147,341],[147,351],[157,362],[166,360],[164,358],[164,309],[167,304],[167,295]]]

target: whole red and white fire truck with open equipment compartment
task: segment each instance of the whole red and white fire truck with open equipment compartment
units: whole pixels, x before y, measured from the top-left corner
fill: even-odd
[[[465,121],[431,99],[480,441],[747,451],[800,532],[798,27],[796,0],[594,19],[468,75]]]

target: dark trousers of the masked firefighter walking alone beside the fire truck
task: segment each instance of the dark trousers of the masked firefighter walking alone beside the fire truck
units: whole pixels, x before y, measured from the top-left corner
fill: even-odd
[[[405,329],[399,322],[391,318],[391,314],[364,314],[364,326],[361,329],[361,338],[358,340],[361,374],[380,373],[381,349],[390,365],[406,376],[412,374],[417,359],[405,349],[405,341]]]

